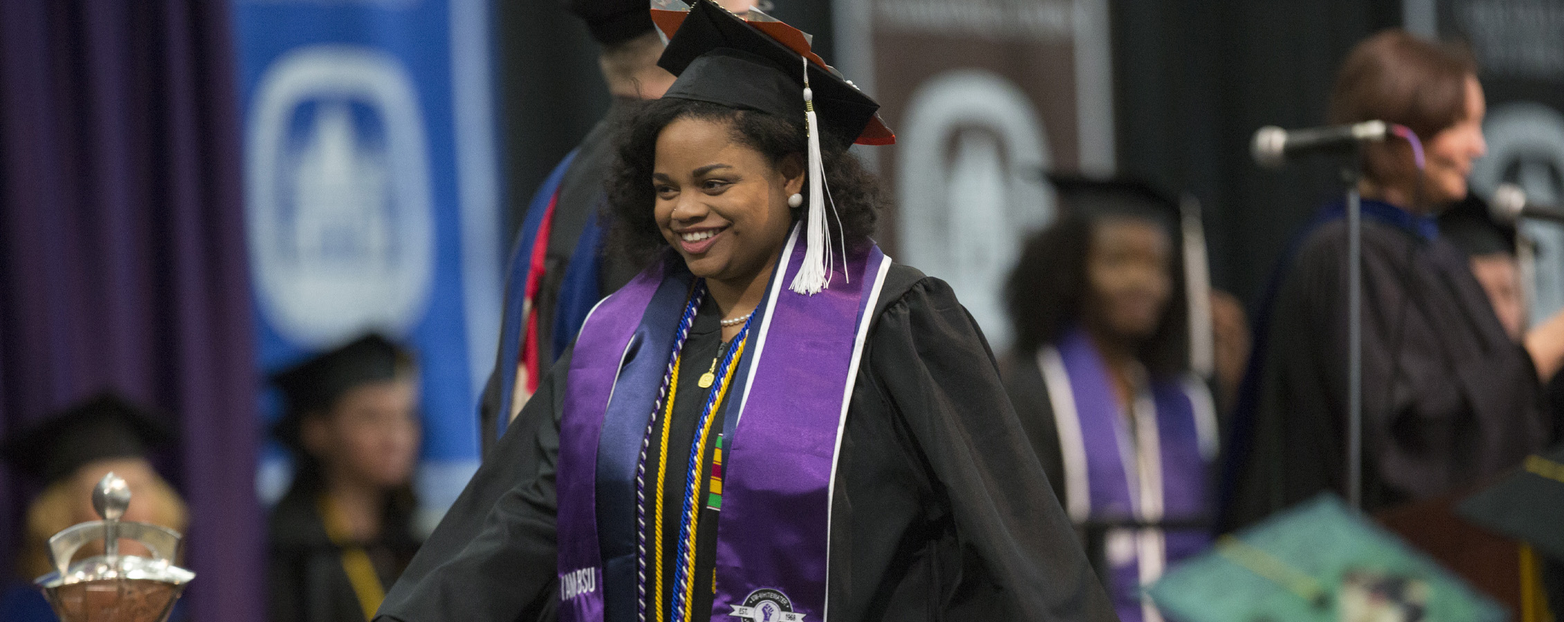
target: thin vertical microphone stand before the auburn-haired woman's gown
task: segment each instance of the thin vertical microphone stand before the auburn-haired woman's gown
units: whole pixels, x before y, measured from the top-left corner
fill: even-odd
[[[1362,148],[1342,167],[1347,183],[1347,503],[1362,511],[1364,444],[1364,266],[1362,266]]]

